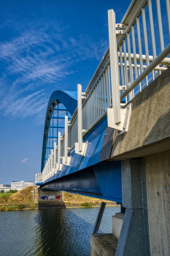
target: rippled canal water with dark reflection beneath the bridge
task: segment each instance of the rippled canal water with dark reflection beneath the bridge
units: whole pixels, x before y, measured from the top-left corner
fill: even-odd
[[[90,234],[99,208],[58,208],[0,212],[1,256],[89,256]],[[120,207],[106,207],[100,233],[112,233],[112,216]]]

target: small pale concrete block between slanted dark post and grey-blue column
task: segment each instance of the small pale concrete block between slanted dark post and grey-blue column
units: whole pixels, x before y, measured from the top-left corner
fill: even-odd
[[[117,238],[117,240],[120,237],[120,231],[123,225],[123,218],[124,214],[115,214],[115,216],[112,216],[112,236],[113,238]]]

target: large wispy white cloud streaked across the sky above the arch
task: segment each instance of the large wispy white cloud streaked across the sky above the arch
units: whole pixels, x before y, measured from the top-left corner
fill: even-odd
[[[77,72],[80,61],[99,61],[108,42],[86,35],[69,37],[70,28],[43,20],[15,26],[18,37],[0,42],[0,63],[5,67],[0,78],[0,113],[12,118],[36,116],[44,122],[50,91],[61,88],[63,80]]]

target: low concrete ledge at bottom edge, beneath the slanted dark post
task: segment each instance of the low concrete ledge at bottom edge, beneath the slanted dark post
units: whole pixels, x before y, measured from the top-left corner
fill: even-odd
[[[117,239],[112,234],[90,236],[90,256],[115,256]]]

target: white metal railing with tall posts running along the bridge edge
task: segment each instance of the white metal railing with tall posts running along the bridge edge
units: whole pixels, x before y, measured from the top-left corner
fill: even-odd
[[[54,145],[54,151],[51,151],[43,172],[36,174],[36,182],[45,182],[57,170],[61,170],[62,160],[63,164],[69,165],[68,149],[74,148],[77,141],[81,143],[80,132],[82,135],[87,135],[104,116],[107,118],[109,116],[108,123],[111,120],[113,128],[117,126],[115,129],[120,129],[121,132],[127,131],[125,125],[127,126],[129,117],[126,118],[125,124],[122,121],[122,113],[124,116],[126,113],[127,116],[130,115],[131,99],[170,65],[170,58],[166,58],[170,53],[170,44],[167,40],[166,48],[164,47],[161,4],[160,0],[133,0],[120,24],[115,23],[115,12],[108,11],[109,48],[85,93],[82,94],[82,120],[80,121],[77,116],[77,109],[72,116],[69,129],[66,127],[67,119],[65,133],[61,140],[58,140],[58,147]],[[152,6],[155,6],[157,11],[157,16],[154,15],[154,18]],[[166,30],[170,38],[169,0],[165,0],[165,6]],[[155,23],[158,23],[156,41]],[[151,52],[152,54],[149,54]],[[120,103],[123,99],[124,102]],[[130,107],[127,108],[128,105]],[[126,108],[123,109],[124,106]],[[58,163],[55,159],[58,159]]]

